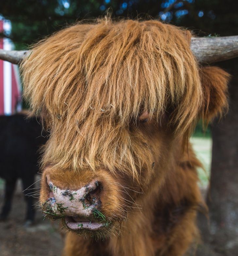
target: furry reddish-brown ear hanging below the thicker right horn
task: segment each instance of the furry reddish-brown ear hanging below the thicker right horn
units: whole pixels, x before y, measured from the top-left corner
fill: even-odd
[[[201,117],[210,122],[228,109],[228,82],[230,75],[219,67],[202,67],[200,79],[203,88]]]

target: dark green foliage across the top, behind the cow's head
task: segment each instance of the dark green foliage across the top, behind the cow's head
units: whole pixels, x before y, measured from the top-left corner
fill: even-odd
[[[175,0],[174,0],[175,1]],[[105,15],[110,8],[112,17],[159,18],[168,0],[16,0],[1,1],[0,14],[12,23],[9,37],[16,49],[23,49],[39,39],[82,19]],[[166,12],[165,21],[194,29],[199,35],[238,33],[238,2],[234,0],[181,0]],[[182,11],[185,10],[186,14]],[[180,14],[179,14],[180,11]],[[202,12],[199,17],[198,13]],[[229,15],[227,15],[229,13]],[[168,19],[169,17],[169,19]]]

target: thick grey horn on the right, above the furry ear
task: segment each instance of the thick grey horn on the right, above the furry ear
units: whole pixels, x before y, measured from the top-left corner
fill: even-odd
[[[190,48],[201,63],[238,57],[238,36],[192,37]]]

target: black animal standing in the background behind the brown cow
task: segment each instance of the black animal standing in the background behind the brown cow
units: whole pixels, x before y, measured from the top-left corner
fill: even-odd
[[[24,195],[31,195],[35,191],[31,185],[39,171],[39,149],[45,142],[40,119],[27,118],[24,113],[0,116],[0,177],[6,181],[1,220],[9,215],[17,179],[22,180]],[[25,219],[31,223],[35,216],[33,197],[25,196],[25,200]]]

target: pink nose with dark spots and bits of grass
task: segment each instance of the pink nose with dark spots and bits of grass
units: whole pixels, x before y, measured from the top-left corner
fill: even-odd
[[[48,178],[47,183],[51,190],[47,201],[57,215],[87,217],[101,205],[102,186],[97,180],[92,180],[78,190],[60,189]]]

